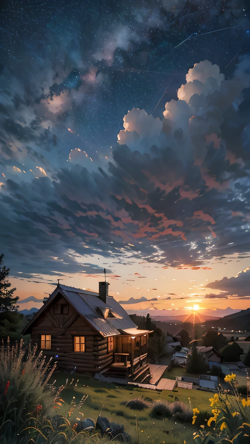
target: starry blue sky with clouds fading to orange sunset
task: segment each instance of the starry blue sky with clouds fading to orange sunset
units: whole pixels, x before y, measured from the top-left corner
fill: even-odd
[[[248,2],[0,15],[0,250],[20,309],[57,279],[97,291],[104,268],[118,301],[156,299],[129,311],[248,308]]]

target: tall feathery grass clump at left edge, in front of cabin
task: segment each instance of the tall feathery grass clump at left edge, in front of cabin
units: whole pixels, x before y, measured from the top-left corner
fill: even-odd
[[[6,347],[0,346],[0,435],[6,428],[19,430],[29,414],[37,417],[52,412],[59,394],[48,384],[54,369],[36,346],[24,348],[22,340],[12,347],[9,341]]]

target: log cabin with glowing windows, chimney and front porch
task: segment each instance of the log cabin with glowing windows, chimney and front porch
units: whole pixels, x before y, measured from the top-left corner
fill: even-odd
[[[32,343],[54,357],[59,369],[142,382],[150,374],[150,332],[139,330],[108,296],[108,285],[99,282],[95,293],[58,284],[23,334],[30,333]]]

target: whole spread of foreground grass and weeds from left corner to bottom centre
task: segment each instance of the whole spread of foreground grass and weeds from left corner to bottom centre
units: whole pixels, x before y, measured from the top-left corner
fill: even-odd
[[[99,433],[97,420],[91,431],[79,429],[81,420],[70,424],[75,408],[79,410],[88,396],[77,405],[74,398],[68,417],[55,415],[64,402],[63,389],[77,383],[73,380],[56,388],[49,383],[56,368],[47,361],[37,346],[20,344],[0,346],[0,444],[115,444],[107,433]],[[110,433],[109,433],[110,435]]]

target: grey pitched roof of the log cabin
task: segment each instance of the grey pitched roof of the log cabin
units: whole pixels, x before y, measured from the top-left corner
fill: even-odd
[[[23,334],[30,333],[33,323],[40,314],[44,312],[48,305],[50,305],[58,293],[65,297],[77,313],[102,336],[120,335],[121,333],[119,330],[137,329],[137,325],[133,323],[128,313],[112,296],[107,297],[107,303],[105,304],[98,297],[98,293],[60,284],[57,285],[56,289],[50,297],[48,297],[46,303],[38,310],[33,319],[25,327]],[[105,319],[101,316],[101,312],[98,313],[98,308],[109,308],[111,313],[114,313],[115,317],[108,317]]]

